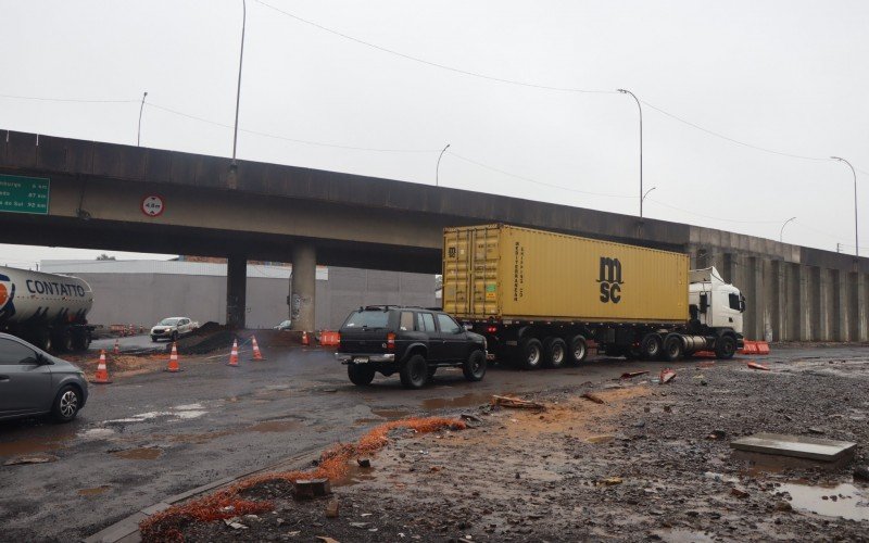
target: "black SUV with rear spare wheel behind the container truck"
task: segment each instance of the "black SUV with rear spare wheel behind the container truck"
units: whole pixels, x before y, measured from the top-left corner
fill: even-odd
[[[336,358],[354,384],[370,384],[380,371],[420,389],[439,367],[459,366],[468,381],[486,375],[486,338],[465,330],[441,310],[369,305],[347,317]]]

